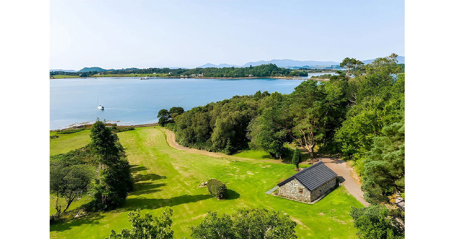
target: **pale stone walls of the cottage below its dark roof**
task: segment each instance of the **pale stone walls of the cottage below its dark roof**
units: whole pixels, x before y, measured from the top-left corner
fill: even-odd
[[[278,188],[278,196],[310,203],[328,194],[335,188],[336,183],[335,177],[310,192],[297,179],[292,179]],[[298,192],[299,188],[303,189],[303,193]]]

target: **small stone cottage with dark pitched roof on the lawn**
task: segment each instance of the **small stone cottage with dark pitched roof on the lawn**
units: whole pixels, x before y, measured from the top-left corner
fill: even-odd
[[[278,185],[278,196],[311,203],[329,194],[337,174],[322,161],[292,175]]]

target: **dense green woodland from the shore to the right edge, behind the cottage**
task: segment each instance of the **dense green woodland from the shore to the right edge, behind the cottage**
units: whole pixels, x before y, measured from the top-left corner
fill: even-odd
[[[257,92],[198,106],[170,124],[184,146],[233,153],[247,147],[279,158],[285,143],[341,153],[362,177],[367,209],[353,209],[361,238],[380,217],[400,237],[404,226],[404,74],[395,54],[364,65],[346,58],[345,74],[307,80],[291,94]],[[298,158],[294,160],[299,161]],[[379,206],[380,205],[380,206]],[[360,211],[359,211],[360,210]],[[370,224],[357,223],[370,220]],[[381,221],[384,225],[384,222]],[[365,225],[365,227],[363,226]]]

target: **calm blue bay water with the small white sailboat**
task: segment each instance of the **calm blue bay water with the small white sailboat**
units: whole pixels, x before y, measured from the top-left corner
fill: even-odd
[[[119,125],[156,123],[161,109],[181,106],[190,110],[234,95],[251,95],[258,90],[288,94],[303,80],[306,79],[139,80],[137,77],[102,77],[50,80],[50,129],[93,121],[96,117],[107,121],[118,120]],[[105,110],[96,108],[98,96]]]

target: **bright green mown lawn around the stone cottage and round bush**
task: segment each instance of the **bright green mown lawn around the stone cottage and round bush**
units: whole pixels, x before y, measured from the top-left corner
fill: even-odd
[[[51,154],[86,145],[89,133],[89,130],[84,130],[59,134],[59,138],[50,139]],[[130,225],[127,221],[129,211],[139,208],[143,212],[158,215],[166,206],[170,206],[174,213],[174,238],[189,238],[188,226],[201,222],[209,210],[232,212],[240,207],[267,208],[289,214],[297,222],[299,238],[355,238],[349,210],[351,206],[361,207],[362,204],[349,195],[343,186],[315,204],[296,202],[264,193],[295,173],[292,164],[258,159],[240,162],[190,154],[171,148],[159,127],[136,128],[117,135],[133,166],[131,172],[136,182],[134,191],[121,209],[52,224],[50,238],[102,239],[112,229],[120,231]],[[243,157],[248,155],[262,157],[258,152],[250,152]],[[197,189],[198,184],[210,178],[227,183],[227,199],[217,200],[208,194],[206,188]],[[89,197],[76,202],[70,209],[76,209],[87,202],[86,199]]]

